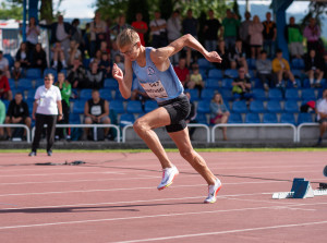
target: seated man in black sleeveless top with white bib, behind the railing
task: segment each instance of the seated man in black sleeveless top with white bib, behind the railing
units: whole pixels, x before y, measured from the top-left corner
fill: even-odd
[[[109,118],[109,104],[107,100],[100,98],[100,94],[98,90],[94,89],[92,92],[92,99],[88,99],[85,102],[84,108],[85,116],[85,124],[110,124]],[[109,127],[105,129],[105,137],[108,139],[112,139],[109,133]],[[89,134],[89,129],[84,129],[83,139],[92,139],[92,135]]]

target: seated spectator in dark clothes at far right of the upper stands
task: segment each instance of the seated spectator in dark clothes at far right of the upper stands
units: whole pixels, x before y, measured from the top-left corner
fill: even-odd
[[[324,77],[323,60],[316,54],[314,49],[311,49],[304,59],[305,73],[308,76],[310,85],[312,87],[320,87],[320,81]],[[316,82],[315,82],[316,78]]]

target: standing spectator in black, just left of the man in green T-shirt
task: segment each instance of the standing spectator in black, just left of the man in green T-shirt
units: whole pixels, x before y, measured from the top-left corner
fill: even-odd
[[[215,51],[217,48],[218,32],[221,29],[220,22],[214,16],[214,10],[208,11],[209,19],[204,26],[205,48],[207,51]],[[221,31],[220,31],[221,33]]]

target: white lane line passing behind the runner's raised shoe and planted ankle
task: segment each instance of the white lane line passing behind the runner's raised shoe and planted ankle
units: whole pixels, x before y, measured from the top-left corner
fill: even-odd
[[[223,185],[239,185],[239,184],[265,184],[265,183],[286,183],[286,181],[259,181],[259,182],[235,182],[223,183]],[[174,185],[173,187],[196,187],[207,186],[207,184],[187,184]],[[99,190],[81,190],[81,191],[59,191],[59,192],[43,192],[43,193],[14,193],[14,194],[0,194],[0,196],[26,196],[26,195],[49,195],[49,194],[64,194],[64,193],[94,193],[94,192],[117,192],[117,191],[135,191],[135,190],[154,190],[155,186],[148,187],[122,187],[122,189],[99,189]]]

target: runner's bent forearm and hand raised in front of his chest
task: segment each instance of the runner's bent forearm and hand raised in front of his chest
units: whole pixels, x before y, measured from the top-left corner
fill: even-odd
[[[133,81],[132,62],[125,59],[124,65],[125,65],[125,75],[123,74],[122,70],[118,68],[118,65],[114,63],[112,66],[112,76],[118,81],[121,96],[128,99],[131,97],[131,88],[132,88],[132,81]]]

